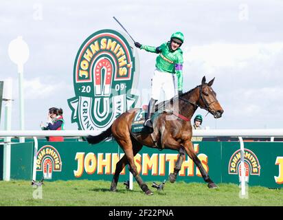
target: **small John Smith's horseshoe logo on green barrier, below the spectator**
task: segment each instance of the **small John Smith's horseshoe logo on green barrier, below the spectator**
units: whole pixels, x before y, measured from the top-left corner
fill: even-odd
[[[52,179],[52,172],[62,170],[60,154],[50,145],[43,146],[37,153],[36,171],[43,171],[44,179]]]

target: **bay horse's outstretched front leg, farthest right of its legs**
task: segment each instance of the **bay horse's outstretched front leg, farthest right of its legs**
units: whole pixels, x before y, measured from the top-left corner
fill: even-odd
[[[203,168],[203,164],[201,164],[201,161],[199,160],[199,157],[196,156],[196,153],[194,152],[194,146],[191,141],[187,141],[184,144],[184,148],[186,153],[189,155],[189,157],[194,161],[194,164],[199,168],[201,175],[203,176],[203,179],[205,182],[208,183],[208,188],[217,188],[216,184],[210,179],[210,176],[207,175],[207,172],[205,171],[205,168]]]

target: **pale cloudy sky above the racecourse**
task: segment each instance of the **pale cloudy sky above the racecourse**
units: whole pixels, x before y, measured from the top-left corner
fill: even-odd
[[[80,45],[94,32],[113,29],[126,34],[115,16],[141,44],[159,46],[181,31],[183,85],[188,91],[215,77],[222,118],[203,109],[203,127],[210,129],[280,129],[282,116],[283,1],[0,1],[0,80],[12,78],[12,130],[19,129],[17,67],[8,56],[17,36],[30,49],[23,67],[25,129],[38,130],[50,107],[64,111],[75,96],[73,64]],[[150,91],[156,54],[137,50],[139,91]],[[147,104],[140,97],[139,104]],[[5,102],[3,102],[3,107]],[[3,109],[2,107],[2,109]],[[3,129],[3,110],[0,129]]]

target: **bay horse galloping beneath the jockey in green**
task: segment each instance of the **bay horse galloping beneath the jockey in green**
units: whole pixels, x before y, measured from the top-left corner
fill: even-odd
[[[89,144],[97,144],[113,135],[125,153],[116,164],[115,174],[111,182],[111,191],[115,192],[117,190],[119,175],[124,166],[128,164],[128,168],[130,172],[133,173],[141,190],[143,190],[146,195],[153,194],[146,183],[141,179],[134,162],[135,155],[144,145],[152,148],[156,148],[158,145],[159,148],[169,148],[179,151],[179,157],[174,166],[174,173],[170,173],[169,175],[171,183],[174,183],[176,180],[179,170],[181,170],[185,153],[187,153],[201,171],[201,175],[204,181],[207,182],[207,186],[209,188],[217,188],[216,184],[210,179],[210,176],[207,175],[201,161],[194,152],[191,141],[192,125],[190,122],[192,115],[194,115],[198,107],[212,113],[214,118],[220,118],[223,114],[223,109],[216,99],[216,93],[212,89],[214,79],[215,78],[210,80],[209,83],[205,83],[205,76],[203,76],[201,85],[181,94],[181,96],[174,96],[166,102],[161,102],[161,104],[159,102],[159,104],[155,106],[156,110],[162,108],[166,109],[166,111],[161,111],[152,122],[156,142],[152,140],[150,133],[142,133],[139,136],[134,136],[133,133],[131,133],[133,118],[139,109],[130,109],[122,113],[122,115],[114,120],[109,129],[106,129],[106,131],[103,131],[99,135],[89,135],[87,137]]]

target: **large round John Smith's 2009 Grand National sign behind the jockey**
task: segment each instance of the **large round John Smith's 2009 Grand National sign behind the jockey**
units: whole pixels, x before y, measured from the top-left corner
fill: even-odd
[[[114,30],[100,30],[82,43],[73,67],[76,97],[68,100],[71,122],[80,130],[104,131],[124,111],[135,107],[138,73],[133,49]]]

